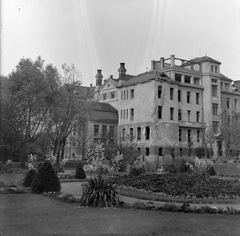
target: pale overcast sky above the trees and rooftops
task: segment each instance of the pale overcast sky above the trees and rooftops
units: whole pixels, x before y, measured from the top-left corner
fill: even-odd
[[[149,70],[151,60],[210,56],[240,80],[240,0],[2,0],[1,72],[20,58],[81,71],[82,82]]]

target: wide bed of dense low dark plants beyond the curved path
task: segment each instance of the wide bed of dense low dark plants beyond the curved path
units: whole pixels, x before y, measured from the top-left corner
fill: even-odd
[[[184,199],[238,199],[240,182],[211,179],[206,174],[179,173],[123,177],[120,185],[145,193]]]

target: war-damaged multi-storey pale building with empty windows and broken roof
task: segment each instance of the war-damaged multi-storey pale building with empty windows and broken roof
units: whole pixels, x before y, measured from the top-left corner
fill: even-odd
[[[151,70],[127,75],[120,64],[119,78],[99,84],[95,99],[118,110],[118,132],[137,140],[141,155],[154,163],[166,144],[176,154],[191,154],[202,147],[205,132],[214,134],[214,155],[225,155],[220,125],[223,110],[239,111],[240,92],[220,73],[219,61],[204,56],[192,60],[160,58]],[[99,72],[99,71],[98,71]],[[101,72],[101,71],[100,71]],[[102,79],[97,74],[97,82]],[[240,86],[239,86],[240,87]]]

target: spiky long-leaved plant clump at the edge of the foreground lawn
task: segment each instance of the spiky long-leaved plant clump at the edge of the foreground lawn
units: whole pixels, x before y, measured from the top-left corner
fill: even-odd
[[[83,195],[80,199],[83,206],[90,207],[111,207],[117,206],[119,196],[116,186],[109,179],[104,179],[102,175],[91,178],[88,184],[83,186]]]

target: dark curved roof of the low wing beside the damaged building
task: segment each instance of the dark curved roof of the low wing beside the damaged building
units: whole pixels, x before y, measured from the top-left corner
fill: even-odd
[[[108,103],[93,102],[89,111],[89,120],[106,123],[118,123],[118,112]]]

